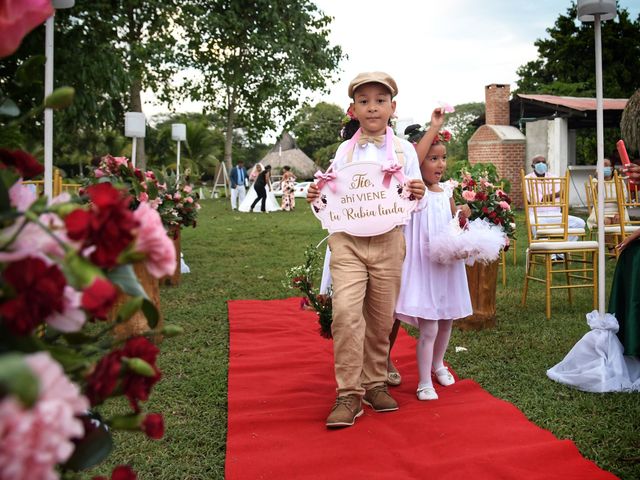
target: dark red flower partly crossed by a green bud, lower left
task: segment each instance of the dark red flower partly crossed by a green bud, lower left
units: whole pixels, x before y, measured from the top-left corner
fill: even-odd
[[[161,373],[156,366],[158,353],[160,353],[158,347],[144,337],[130,338],[122,349],[122,356],[127,358],[141,358],[151,365],[155,371],[153,377],[145,377],[131,371],[126,372],[122,381],[122,390],[135,411],[140,410],[138,400],[148,400],[151,388],[160,380]]]

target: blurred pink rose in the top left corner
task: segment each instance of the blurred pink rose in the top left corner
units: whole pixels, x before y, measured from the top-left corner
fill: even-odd
[[[50,0],[3,0],[0,8],[0,57],[15,52],[23,37],[53,15]]]

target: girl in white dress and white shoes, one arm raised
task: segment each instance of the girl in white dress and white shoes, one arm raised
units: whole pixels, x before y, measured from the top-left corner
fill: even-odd
[[[464,260],[442,264],[430,258],[429,240],[449,225],[459,209],[469,217],[467,205],[456,208],[453,188],[441,183],[447,166],[443,135],[438,134],[420,166],[427,185],[427,207],[412,215],[405,226],[407,254],[402,269],[402,286],[396,318],[418,327],[417,344],[419,400],[436,400],[431,372],[444,386],[455,382],[444,365],[453,320],[473,313]]]

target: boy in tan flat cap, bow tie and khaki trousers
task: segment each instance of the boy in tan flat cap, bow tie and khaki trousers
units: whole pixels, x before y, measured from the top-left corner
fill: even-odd
[[[386,162],[385,134],[396,109],[393,98],[398,93],[395,80],[384,72],[361,73],[351,81],[348,92],[361,132],[355,147],[349,142],[340,145],[334,169],[352,161]],[[409,190],[421,199],[425,186],[415,149],[406,140],[392,138],[394,159],[403,166],[405,178],[411,179]],[[313,202],[318,196],[319,190],[313,184],[307,201]],[[328,244],[338,395],[326,425],[335,428],[353,425],[362,415],[363,402],[376,412],[398,409],[385,381],[405,241],[402,228],[396,227],[372,237],[333,233]]]

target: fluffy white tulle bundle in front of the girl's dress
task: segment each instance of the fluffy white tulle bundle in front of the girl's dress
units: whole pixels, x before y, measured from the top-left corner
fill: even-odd
[[[448,264],[465,260],[467,265],[473,265],[497,260],[506,242],[507,237],[500,226],[477,218],[461,228],[456,215],[447,228],[425,243],[424,248],[435,262]]]

